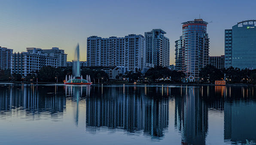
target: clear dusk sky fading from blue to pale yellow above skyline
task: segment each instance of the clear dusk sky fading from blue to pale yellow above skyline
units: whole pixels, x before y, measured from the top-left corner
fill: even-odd
[[[27,47],[59,47],[74,59],[86,60],[89,36],[123,37],[162,29],[170,39],[170,63],[182,22],[209,22],[210,56],[224,54],[224,30],[256,19],[256,0],[0,0],[0,46],[14,52]]]

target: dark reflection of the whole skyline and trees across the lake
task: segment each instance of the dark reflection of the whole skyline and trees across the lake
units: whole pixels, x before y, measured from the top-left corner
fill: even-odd
[[[128,135],[143,135],[159,142],[179,134],[181,144],[207,144],[207,139],[214,136],[209,134],[209,110],[213,110],[224,114],[224,124],[218,124],[222,126],[224,142],[250,144],[256,141],[254,89],[252,86],[0,85],[0,121],[22,116],[21,119],[50,118],[58,122],[71,116],[72,121],[65,126],[75,125],[83,133],[98,135],[107,130],[115,134],[123,130]]]

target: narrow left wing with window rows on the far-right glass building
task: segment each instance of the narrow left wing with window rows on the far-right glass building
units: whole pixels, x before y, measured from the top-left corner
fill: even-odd
[[[232,29],[225,30],[225,68],[229,68],[232,62]]]

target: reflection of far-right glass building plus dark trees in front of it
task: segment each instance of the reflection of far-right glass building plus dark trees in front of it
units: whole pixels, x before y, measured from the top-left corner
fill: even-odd
[[[227,88],[231,96],[226,98],[224,105],[225,142],[256,144],[254,87]]]

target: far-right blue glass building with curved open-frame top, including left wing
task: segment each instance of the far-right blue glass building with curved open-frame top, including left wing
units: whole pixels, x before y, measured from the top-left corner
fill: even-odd
[[[230,63],[240,69],[256,69],[256,20],[241,21],[225,30],[225,67]]]

